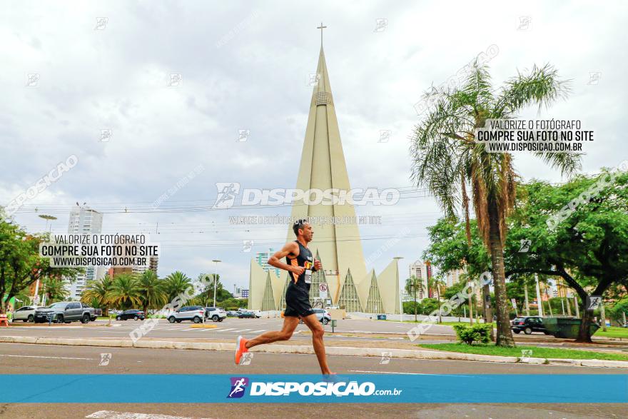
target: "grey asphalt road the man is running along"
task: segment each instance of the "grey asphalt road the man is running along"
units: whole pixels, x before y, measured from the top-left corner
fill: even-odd
[[[101,365],[101,353],[111,353]],[[486,374],[621,374],[612,368],[559,365],[479,363],[447,360],[330,356],[338,373],[486,373]],[[188,374],[318,374],[313,355],[255,353],[252,363],[233,365],[233,353],[197,350],[150,350],[57,345],[0,344],[2,373],[188,373]],[[77,389],[78,390],[78,389]],[[103,389],[105,391],[106,389]],[[164,391],[168,389],[165,388]],[[222,390],[222,389],[221,389]],[[600,390],[600,389],[595,389]],[[625,405],[597,404],[11,404],[0,405],[0,418],[614,418],[625,417]],[[159,416],[162,415],[162,416]],[[164,416],[166,415],[166,416]]]

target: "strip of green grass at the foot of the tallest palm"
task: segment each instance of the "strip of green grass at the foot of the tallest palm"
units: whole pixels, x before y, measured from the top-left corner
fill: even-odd
[[[628,354],[594,352],[593,350],[541,348],[539,346],[517,346],[516,348],[501,348],[492,344],[467,345],[465,343],[430,343],[417,345],[420,348],[448,350],[450,352],[475,353],[478,355],[521,356],[522,350],[532,350],[532,358],[563,358],[563,359],[600,359],[600,360],[628,360]]]

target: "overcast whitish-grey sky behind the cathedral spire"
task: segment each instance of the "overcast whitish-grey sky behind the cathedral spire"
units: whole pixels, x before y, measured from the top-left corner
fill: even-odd
[[[320,21],[352,186],[388,188],[412,186],[409,137],[422,92],[490,46],[499,51],[489,63],[497,86],[533,64],[571,79],[566,101],[522,116],[581,120],[595,131],[583,171],[617,166],[628,156],[620,136],[627,9],[620,1],[4,1],[0,203],[76,155],[71,171],[21,207],[18,223],[43,231],[37,215],[51,214],[59,218],[52,231],[65,233],[72,206],[86,202],[104,213],[105,233],[151,233],[162,246],[161,276],[196,277],[218,258],[227,288],[246,286],[252,254],[281,246],[287,230],[233,226],[228,217],[290,208],[211,211],[216,182],[295,186]],[[390,141],[379,141],[382,130]],[[527,156],[516,167],[526,179],[561,180]],[[201,173],[168,193],[194,168]],[[153,208],[163,193],[171,196]],[[420,258],[440,211],[414,196],[358,208],[383,217],[360,227],[365,257],[386,248],[375,271],[402,256],[405,278]]]

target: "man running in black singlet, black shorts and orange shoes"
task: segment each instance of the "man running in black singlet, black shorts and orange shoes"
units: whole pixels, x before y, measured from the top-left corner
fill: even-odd
[[[283,246],[283,249],[268,259],[268,264],[275,268],[290,272],[292,281],[285,291],[285,312],[283,313],[283,328],[278,332],[265,332],[253,339],[245,339],[238,336],[236,341],[236,365],[240,363],[242,354],[248,352],[253,346],[271,343],[277,340],[288,340],[299,324],[299,318],[312,330],[312,343],[314,352],[318,358],[320,370],[325,375],[333,374],[325,358],[325,344],[323,343],[323,325],[310,306],[310,284],[312,272],[318,271],[322,266],[320,261],[314,260],[312,252],[308,249],[308,243],[312,241],[312,226],[305,220],[299,220],[293,225],[293,231],[297,236],[296,241],[291,241]],[[280,261],[285,257],[287,263]]]

